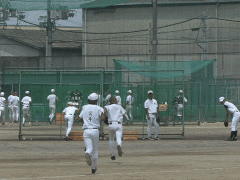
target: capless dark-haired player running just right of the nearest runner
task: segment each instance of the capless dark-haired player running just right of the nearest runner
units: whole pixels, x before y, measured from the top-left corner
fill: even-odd
[[[111,159],[115,160],[115,149],[114,149],[114,135],[116,134],[117,141],[117,150],[118,155],[122,156],[122,121],[125,118],[125,109],[122,106],[118,105],[117,98],[110,98],[111,105],[105,106],[104,109],[104,118],[108,117],[108,125],[109,125],[109,145],[111,150]]]

